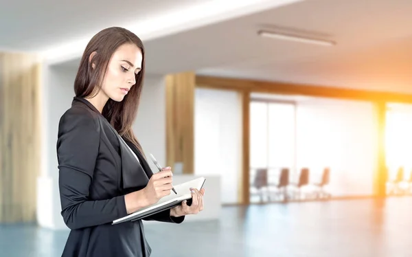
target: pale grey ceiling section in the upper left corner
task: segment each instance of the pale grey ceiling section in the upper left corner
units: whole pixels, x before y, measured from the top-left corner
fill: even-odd
[[[37,52],[201,0],[2,1],[0,47]]]

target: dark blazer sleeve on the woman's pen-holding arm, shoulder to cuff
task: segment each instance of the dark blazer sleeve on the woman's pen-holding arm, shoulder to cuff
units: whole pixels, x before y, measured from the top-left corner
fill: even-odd
[[[124,196],[91,201],[100,145],[100,127],[89,113],[65,113],[59,122],[57,157],[62,217],[71,230],[110,223],[126,216]]]

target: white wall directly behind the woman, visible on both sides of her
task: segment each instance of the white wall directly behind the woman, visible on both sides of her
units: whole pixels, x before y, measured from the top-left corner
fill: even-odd
[[[38,179],[39,225],[67,229],[60,216],[56,141],[58,122],[73,100],[76,69],[46,66],[43,87],[43,170]],[[165,91],[163,76],[146,76],[137,120],[133,127],[145,150],[165,163]],[[151,164],[152,165],[152,164]],[[153,166],[154,168],[154,166]]]

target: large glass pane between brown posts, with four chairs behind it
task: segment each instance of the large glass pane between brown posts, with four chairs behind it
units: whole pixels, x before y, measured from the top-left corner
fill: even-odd
[[[372,194],[376,117],[370,102],[255,94],[251,202]]]

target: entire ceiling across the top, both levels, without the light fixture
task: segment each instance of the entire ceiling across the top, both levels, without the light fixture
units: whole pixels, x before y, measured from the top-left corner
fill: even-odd
[[[76,0],[76,4],[59,2],[58,8],[55,1],[47,0],[47,7],[27,1],[25,11],[19,8],[18,15],[8,15],[21,4],[9,1],[5,9],[2,3],[0,16],[14,25],[9,29],[0,24],[0,49],[36,51],[60,40],[89,36],[102,27],[131,23],[132,16],[144,19],[206,2],[222,8],[225,2],[231,12],[212,16],[210,10],[222,9],[216,5],[196,14],[203,15],[202,20],[182,21],[179,30],[162,23],[163,31],[156,36],[136,32],[143,35],[149,74],[192,70],[210,76],[412,93],[410,0],[250,0],[242,7],[240,2],[246,0],[125,0],[122,5],[104,0],[99,6]],[[28,23],[24,17],[29,13],[40,18]],[[184,15],[177,12],[177,16]],[[257,35],[262,28],[332,39],[337,44],[323,47],[262,38]],[[59,65],[77,67],[80,55],[76,54]]]

